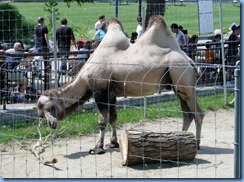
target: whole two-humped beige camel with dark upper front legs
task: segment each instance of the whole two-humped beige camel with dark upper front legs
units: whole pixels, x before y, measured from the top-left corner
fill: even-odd
[[[100,112],[100,136],[91,153],[102,154],[107,123],[112,130],[107,147],[119,147],[117,97],[146,96],[172,88],[182,109],[182,130],[187,131],[195,119],[199,148],[204,113],[196,99],[196,68],[167,29],[163,16],[152,16],[147,30],[134,44],[130,44],[118,19],[108,21],[107,27],[104,39],[77,76],[70,83],[40,96],[38,115],[45,117],[55,129],[58,122],[94,97]]]

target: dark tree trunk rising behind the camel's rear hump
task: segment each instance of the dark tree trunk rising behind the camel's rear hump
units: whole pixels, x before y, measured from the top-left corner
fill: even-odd
[[[145,28],[147,27],[148,21],[152,15],[159,14],[164,16],[165,11],[165,0],[147,0]]]

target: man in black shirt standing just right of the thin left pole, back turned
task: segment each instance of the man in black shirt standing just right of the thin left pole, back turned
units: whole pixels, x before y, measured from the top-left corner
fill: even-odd
[[[76,47],[76,41],[75,36],[73,33],[72,28],[68,27],[68,21],[66,18],[61,19],[61,27],[59,27],[56,30],[56,39],[58,44],[58,50],[59,52],[69,52],[71,47],[71,41],[73,42],[73,45]],[[68,55],[62,56],[62,63],[60,67],[61,73],[66,73],[67,71],[67,65],[66,65],[66,59],[68,58]]]

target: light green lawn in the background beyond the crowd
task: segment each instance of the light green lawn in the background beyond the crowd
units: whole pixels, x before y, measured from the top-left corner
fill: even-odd
[[[50,15],[43,10],[44,3],[11,3],[16,6],[20,13],[31,22],[37,22],[38,16],[44,16],[48,18]],[[146,4],[144,4],[146,10]],[[86,26],[91,32],[94,33],[94,24],[101,13],[106,15],[109,19],[115,16],[115,6],[109,3],[85,3],[81,7],[77,3],[72,3],[68,8],[65,3],[59,3],[58,11],[60,18],[66,17],[70,22],[69,25],[74,27],[75,25]],[[220,15],[219,15],[219,3],[213,3],[214,12],[214,28],[220,27]],[[138,15],[138,4],[129,3],[129,5],[119,6],[119,19],[121,20],[124,30],[127,35],[135,31],[137,22],[136,17]],[[233,6],[232,3],[222,3],[222,17],[224,32],[229,31],[231,23],[240,22],[240,7]],[[174,6],[170,3],[166,6],[165,20],[170,27],[172,23],[182,25],[188,29],[190,35],[198,34],[198,6],[197,3],[186,4],[185,6]],[[60,26],[57,21],[56,26]],[[77,35],[76,35],[77,36]],[[80,37],[78,37],[80,38]]]

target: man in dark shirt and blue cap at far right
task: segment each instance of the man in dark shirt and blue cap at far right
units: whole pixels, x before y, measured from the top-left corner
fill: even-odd
[[[240,44],[240,25],[234,24],[231,29],[233,33],[229,36],[226,53],[227,81],[232,81],[234,78],[234,68],[232,68],[232,66],[236,65],[239,53],[238,46]]]

